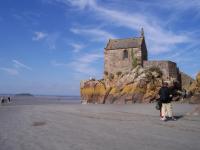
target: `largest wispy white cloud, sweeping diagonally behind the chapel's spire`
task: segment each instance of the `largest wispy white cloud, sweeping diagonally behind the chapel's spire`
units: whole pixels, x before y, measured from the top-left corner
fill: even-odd
[[[115,10],[108,10],[98,6],[95,8],[102,18],[107,19],[107,21],[113,21],[119,26],[124,26],[133,30],[138,30],[141,27],[144,27],[147,33],[146,38],[151,52],[158,53],[170,51],[174,44],[188,41],[188,38],[185,35],[177,35],[165,30],[158,24],[158,22],[154,22],[155,20],[152,21],[152,19],[148,19],[144,15],[136,13],[128,14]]]

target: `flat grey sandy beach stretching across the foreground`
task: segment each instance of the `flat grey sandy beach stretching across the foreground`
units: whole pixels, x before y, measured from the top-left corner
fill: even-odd
[[[187,115],[197,105],[174,104],[178,120],[163,122],[155,104],[20,99],[0,106],[0,150],[200,149],[200,116]]]

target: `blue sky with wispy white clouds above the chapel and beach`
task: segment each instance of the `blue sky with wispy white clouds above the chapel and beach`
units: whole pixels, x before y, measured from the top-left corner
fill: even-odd
[[[200,71],[199,0],[1,0],[0,94],[79,95],[103,77],[109,39],[140,36],[149,60]]]

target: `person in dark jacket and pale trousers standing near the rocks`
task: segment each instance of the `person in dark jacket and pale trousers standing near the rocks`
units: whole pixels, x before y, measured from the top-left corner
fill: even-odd
[[[176,120],[172,115],[172,94],[167,82],[163,83],[163,86],[160,88],[159,95],[162,103],[161,120],[166,121],[168,118],[170,120]]]

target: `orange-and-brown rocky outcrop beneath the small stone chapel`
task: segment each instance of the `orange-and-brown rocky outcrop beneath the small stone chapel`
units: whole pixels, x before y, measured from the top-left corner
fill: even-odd
[[[137,66],[124,74],[105,74],[102,80],[81,82],[82,103],[150,103],[158,98],[162,81],[162,72],[155,67]]]

